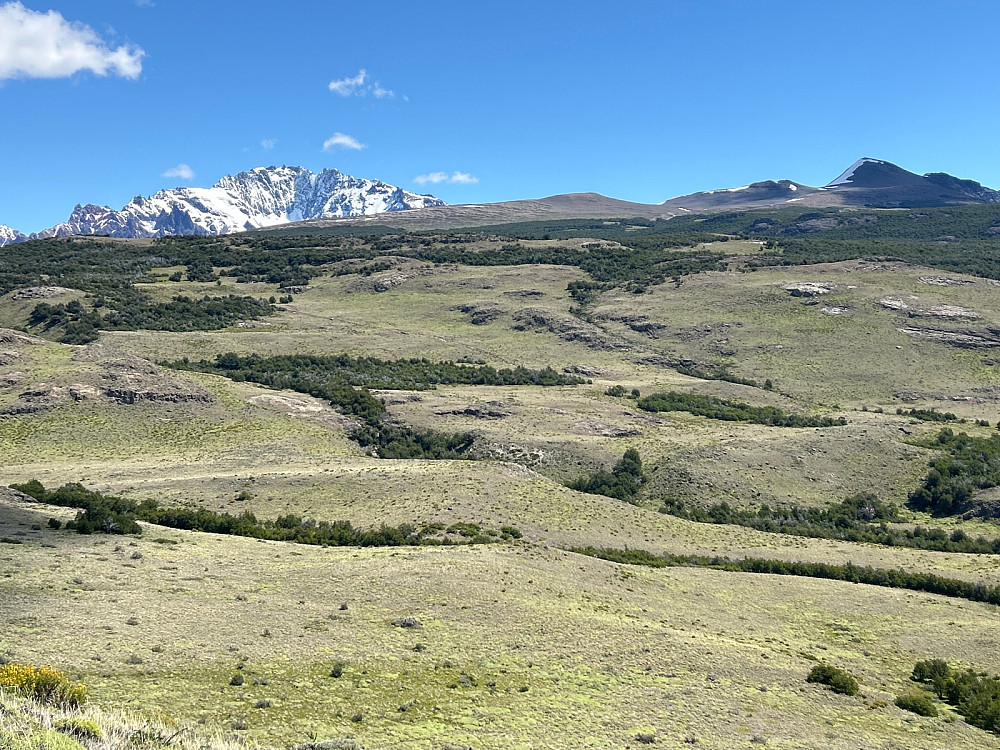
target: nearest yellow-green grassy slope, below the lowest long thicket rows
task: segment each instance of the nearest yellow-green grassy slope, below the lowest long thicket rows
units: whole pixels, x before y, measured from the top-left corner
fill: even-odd
[[[4,531],[32,513],[4,514]],[[992,610],[967,602],[623,568],[527,545],[324,550],[165,530],[24,538],[0,548],[0,566],[16,571],[0,578],[11,626],[0,645],[14,657],[63,665],[98,703],[220,730],[244,721],[268,743],[607,747],[654,730],[668,747],[691,736],[743,747],[754,735],[776,747],[990,742],[961,722],[869,708],[891,702],[927,653],[1000,666]],[[392,625],[407,616],[422,627]],[[246,681],[230,686],[244,658]],[[854,670],[863,696],[806,686],[812,658]],[[344,675],[333,679],[337,661]]]

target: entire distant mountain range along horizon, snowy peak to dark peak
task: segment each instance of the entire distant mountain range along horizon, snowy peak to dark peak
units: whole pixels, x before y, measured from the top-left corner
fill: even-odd
[[[944,172],[918,175],[870,158],[859,159],[822,187],[766,180],[692,193],[657,204],[629,203],[597,193],[571,193],[537,200],[449,206],[429,195],[417,195],[379,180],[351,177],[335,169],[313,174],[302,167],[258,167],[223,177],[210,188],[175,188],[149,198],[136,196],[121,211],[77,206],[68,221],[28,236],[0,225],[0,247],[74,234],[163,237],[227,234],[290,224],[328,226],[376,214],[383,214],[380,224],[443,229],[579,217],[670,218],[690,212],[776,206],[915,208],[998,202],[1000,191],[973,180]]]

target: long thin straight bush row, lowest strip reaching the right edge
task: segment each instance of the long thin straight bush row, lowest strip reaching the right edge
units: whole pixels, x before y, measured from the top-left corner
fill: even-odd
[[[646,565],[653,568],[687,567],[713,568],[736,573],[770,573],[782,576],[804,576],[806,578],[826,578],[833,581],[866,583],[871,586],[885,586],[893,589],[923,591],[956,599],[1000,605],[1000,586],[987,586],[983,582],[971,583],[957,578],[945,578],[933,573],[914,573],[905,570],[887,570],[870,566],[831,565],[828,563],[808,563],[788,560],[766,560],[758,557],[731,559],[728,557],[704,557],[699,555],[655,555],[638,549],[613,549],[577,547],[572,550],[582,555],[598,557],[627,565]]]

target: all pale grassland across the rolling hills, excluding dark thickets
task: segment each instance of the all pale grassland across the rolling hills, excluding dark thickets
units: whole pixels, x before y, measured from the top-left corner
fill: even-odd
[[[226,350],[348,351],[600,368],[592,385],[577,388],[441,388],[409,394],[419,401],[407,394],[394,399],[393,412],[409,422],[472,428],[483,443],[540,451],[534,464],[539,473],[497,462],[374,460],[315,400],[173,374],[206,389],[213,403],[83,402],[0,419],[3,483],[83,480],[131,497],[246,507],[265,516],[292,511],[359,525],[512,523],[525,531],[525,544],[321,550],[157,530],[133,547],[131,540],[33,531],[32,524],[44,526],[51,515],[72,514],[4,505],[0,536],[26,544],[0,545],[3,646],[18,659],[78,673],[102,704],[132,700],[136,707],[204,718],[227,731],[245,721],[251,737],[276,744],[315,733],[357,735],[375,747],[436,749],[445,741],[606,747],[624,746],[636,732],[654,729],[667,747],[685,746],[685,737],[708,747],[750,746],[755,735],[777,747],[802,747],[803,738],[815,747],[989,744],[990,737],[961,722],[903,714],[891,707],[891,698],[916,658],[998,669],[992,609],[829,581],[626,569],[548,546],[853,560],[1000,580],[992,557],[702,526],[552,481],[606,466],[634,446],[657,469],[647,498],[653,506],[664,492],[713,502],[822,503],[873,488],[899,500],[925,460],[922,450],[903,442],[900,428],[918,437],[937,427],[852,409],[881,404],[894,411],[892,394],[913,389],[926,395],[921,404],[992,422],[1000,413],[992,391],[976,390],[992,382],[982,354],[899,339],[900,314],[875,301],[918,294],[933,304],[974,307],[986,317],[966,327],[981,328],[997,317],[985,282],[956,291],[921,284],[920,269],[888,274],[850,264],[709,274],[685,279],[679,289],[604,297],[598,315],[645,314],[668,326],[652,338],[607,317],[597,321],[600,327],[581,323],[629,347],[605,351],[550,332],[511,328],[511,316],[525,307],[568,318],[566,284],[582,278],[575,269],[409,264],[406,273],[405,283],[381,294],[358,277],[316,279],[259,328],[105,334],[85,350],[11,345],[19,356],[0,366],[0,376],[22,372],[24,378],[0,388],[0,406],[16,401],[29,384],[97,383],[109,359],[133,354],[155,360]],[[850,306],[851,315],[823,315],[780,289],[801,280],[841,284],[835,302]],[[857,289],[848,290],[848,283]],[[258,286],[254,293],[275,291]],[[527,289],[542,294],[504,294]],[[158,294],[177,291],[208,287],[156,285]],[[224,284],[222,291],[247,293],[243,285]],[[469,303],[495,304],[501,315],[473,326],[451,309]],[[744,325],[736,326],[737,319]],[[702,333],[705,322],[729,327]],[[810,346],[817,337],[828,345]],[[718,343],[723,339],[728,343]],[[775,350],[777,342],[794,356]],[[722,354],[724,347],[735,353]],[[773,378],[777,392],[699,381],[636,362],[651,355],[730,362],[737,374]],[[683,414],[650,418],[627,399],[604,396],[612,384],[644,393],[690,389],[824,413],[839,409],[851,425],[782,430]],[[951,395],[979,402],[937,398]],[[510,406],[511,416],[484,421],[438,414],[494,401]],[[593,434],[595,423],[640,434],[602,437]],[[242,489],[253,499],[234,504]],[[343,601],[346,612],[338,609]],[[424,628],[391,626],[407,615]],[[126,624],[132,617],[137,625]],[[417,642],[427,650],[413,651]],[[154,652],[156,646],[163,650]],[[140,664],[126,663],[133,653]],[[856,670],[866,700],[806,687],[812,662],[802,654]],[[228,687],[242,656],[249,657],[247,682]],[[347,664],[345,675],[332,680],[337,660]],[[475,685],[461,680],[463,672]],[[268,684],[254,685],[253,678]],[[519,692],[522,687],[528,691]],[[257,709],[260,699],[273,705]],[[870,711],[874,700],[890,707]],[[399,711],[402,705],[408,709]],[[351,720],[357,713],[360,722]]]

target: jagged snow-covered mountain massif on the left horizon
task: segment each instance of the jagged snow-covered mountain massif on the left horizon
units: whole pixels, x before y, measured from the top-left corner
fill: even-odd
[[[31,239],[72,234],[112,237],[215,235],[305,219],[370,216],[386,211],[443,206],[380,180],[366,180],[324,169],[258,167],[227,175],[210,188],[161,190],[137,195],[121,211],[77,206],[69,219],[31,235]]]

